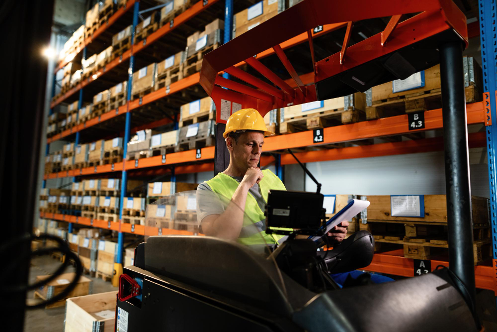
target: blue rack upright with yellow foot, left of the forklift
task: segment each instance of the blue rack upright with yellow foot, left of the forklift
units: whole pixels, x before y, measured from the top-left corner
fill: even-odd
[[[136,25],[138,24],[138,12],[140,8],[140,2],[135,2],[135,7],[133,10],[133,28],[131,30],[131,50],[133,50],[133,41],[135,39],[135,28]],[[133,86],[133,67],[134,67],[134,60],[135,57],[132,55],[129,59],[129,70],[128,70],[128,95],[127,95],[127,107],[128,109],[126,110],[126,124],[124,127],[124,139],[123,139],[123,156],[126,157],[127,153],[127,147],[128,147],[128,142],[129,142],[129,136],[130,136],[130,131],[131,131],[131,113],[129,112],[129,101],[131,100],[131,87]],[[119,221],[122,219],[123,216],[123,203],[124,203],[124,195],[126,194],[126,189],[127,189],[127,183],[128,183],[128,174],[126,170],[124,169],[124,164],[123,163],[123,171],[122,171],[122,176],[121,176],[121,196],[119,200]],[[124,234],[119,231],[119,234],[117,236],[117,252],[115,254],[115,263],[114,263],[114,270],[115,274],[112,278],[112,285],[118,286],[119,285],[119,276],[122,274],[123,271],[123,250],[124,250]]]

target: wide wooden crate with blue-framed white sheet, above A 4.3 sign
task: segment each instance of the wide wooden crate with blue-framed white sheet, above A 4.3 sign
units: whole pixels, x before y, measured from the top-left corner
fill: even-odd
[[[370,202],[367,208],[369,221],[417,221],[447,223],[447,200],[445,195],[424,195],[424,216],[395,217],[391,216],[391,196],[367,196]],[[483,197],[472,196],[474,224],[489,224],[489,200]]]

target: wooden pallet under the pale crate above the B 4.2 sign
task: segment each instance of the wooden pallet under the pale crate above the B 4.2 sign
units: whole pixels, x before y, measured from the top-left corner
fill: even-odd
[[[279,124],[280,134],[289,134],[298,131],[312,130],[318,128],[331,127],[346,123],[354,123],[364,119],[364,113],[359,110],[349,108],[322,111],[313,114],[295,116]]]

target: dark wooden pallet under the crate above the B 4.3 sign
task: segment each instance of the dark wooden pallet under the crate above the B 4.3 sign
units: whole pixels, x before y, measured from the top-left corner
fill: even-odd
[[[483,98],[478,86],[470,85],[465,88],[466,103],[480,102]],[[433,89],[387,100],[373,102],[366,107],[366,119],[373,120],[404,113],[436,110],[442,108],[441,89]]]

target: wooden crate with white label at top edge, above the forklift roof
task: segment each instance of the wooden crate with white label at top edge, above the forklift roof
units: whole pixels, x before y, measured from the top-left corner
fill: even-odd
[[[236,13],[233,17],[233,37],[240,36],[242,33],[276,16],[278,14],[278,2],[263,0]]]

